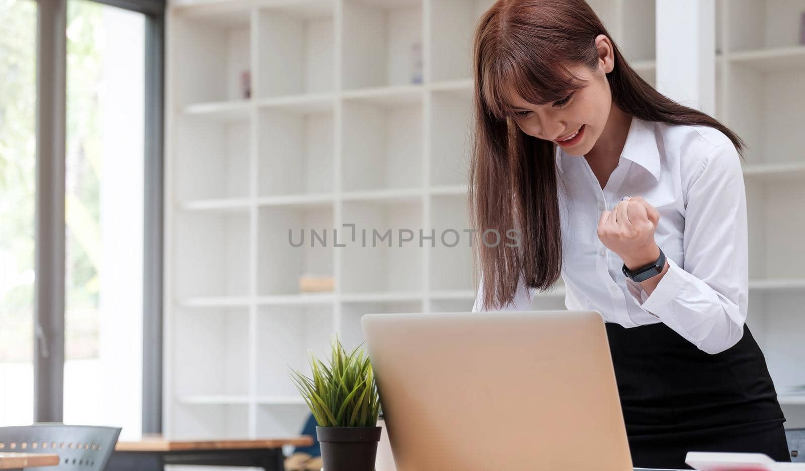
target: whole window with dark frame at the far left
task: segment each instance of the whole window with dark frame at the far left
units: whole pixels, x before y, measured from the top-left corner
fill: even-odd
[[[164,10],[0,0],[0,426],[161,431]]]

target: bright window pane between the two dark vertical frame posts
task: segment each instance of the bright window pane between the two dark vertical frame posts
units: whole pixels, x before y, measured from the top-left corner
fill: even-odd
[[[64,422],[142,419],[145,15],[67,4]]]

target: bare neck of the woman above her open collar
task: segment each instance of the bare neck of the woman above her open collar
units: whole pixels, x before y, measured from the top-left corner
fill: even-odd
[[[601,188],[606,186],[609,175],[621,160],[621,151],[626,143],[626,136],[629,135],[631,124],[632,115],[625,113],[613,103],[601,137],[598,138],[595,146],[584,155],[584,159],[587,159]]]

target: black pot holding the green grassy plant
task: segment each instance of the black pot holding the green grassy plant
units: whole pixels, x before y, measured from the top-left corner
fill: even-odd
[[[324,471],[374,471],[382,427],[316,427]]]

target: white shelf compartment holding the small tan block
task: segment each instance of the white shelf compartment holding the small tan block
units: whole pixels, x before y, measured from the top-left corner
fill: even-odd
[[[299,295],[299,276],[334,273],[332,231],[332,203],[261,208],[258,294]]]

